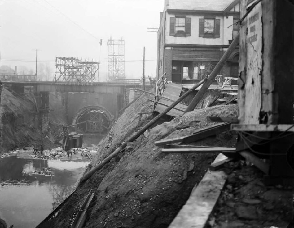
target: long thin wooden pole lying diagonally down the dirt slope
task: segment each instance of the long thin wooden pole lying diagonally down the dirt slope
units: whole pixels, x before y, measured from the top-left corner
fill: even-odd
[[[127,143],[134,142],[140,135],[142,135],[148,128],[150,128],[153,124],[155,124],[162,116],[168,113],[173,107],[175,107],[178,103],[180,103],[184,98],[186,98],[189,94],[191,94],[198,86],[203,84],[207,80],[207,77],[202,79],[199,83],[195,84],[191,89],[189,89],[186,93],[184,93],[181,97],[179,97],[176,101],[174,101],[169,107],[167,107],[163,112],[154,117],[150,122],[148,122],[145,126],[143,126],[140,130],[138,130],[133,136],[127,139],[119,148],[117,148],[114,152],[112,152],[108,157],[103,159],[103,161],[99,162],[96,166],[94,166],[90,171],[88,171],[84,176],[81,177],[80,183],[88,180],[96,171],[100,170],[105,164],[107,164],[113,157],[116,156],[123,148],[127,146]]]

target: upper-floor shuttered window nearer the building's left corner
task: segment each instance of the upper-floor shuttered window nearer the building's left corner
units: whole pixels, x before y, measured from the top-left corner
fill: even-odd
[[[169,35],[177,37],[191,36],[190,17],[170,17]]]

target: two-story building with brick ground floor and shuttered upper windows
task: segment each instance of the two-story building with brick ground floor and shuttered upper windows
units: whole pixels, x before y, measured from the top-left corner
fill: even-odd
[[[195,83],[209,75],[238,34],[240,0],[165,0],[158,30],[157,78]],[[220,74],[238,77],[239,46]]]

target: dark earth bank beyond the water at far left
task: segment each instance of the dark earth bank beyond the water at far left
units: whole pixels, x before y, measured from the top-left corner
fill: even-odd
[[[56,103],[57,100],[56,100]],[[61,102],[60,102],[61,103]],[[55,102],[52,102],[55,104]],[[59,116],[62,116],[62,111]],[[33,93],[25,90],[24,94],[16,94],[3,89],[1,94],[0,106],[1,118],[1,137],[0,137],[0,153],[31,146],[35,143],[44,144],[44,147],[55,148],[50,139],[50,129],[41,131],[38,126],[38,114],[33,102]],[[58,129],[59,126],[54,116],[49,117],[49,126]],[[60,119],[60,117],[59,117]],[[62,122],[60,120],[59,122]]]

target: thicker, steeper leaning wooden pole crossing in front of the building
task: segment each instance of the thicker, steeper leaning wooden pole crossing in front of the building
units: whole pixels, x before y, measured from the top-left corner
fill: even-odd
[[[213,71],[208,76],[207,81],[201,86],[201,88],[199,89],[199,91],[197,92],[197,94],[195,95],[193,100],[190,102],[190,104],[186,108],[184,114],[186,112],[190,112],[190,111],[194,110],[196,105],[200,102],[200,100],[202,99],[204,93],[207,91],[208,87],[211,85],[211,83],[213,82],[213,80],[215,79],[215,77],[217,76],[219,71],[224,66],[225,62],[228,60],[228,58],[230,57],[230,55],[233,53],[234,49],[238,45],[239,37],[240,37],[240,33],[238,33],[238,35],[235,37],[235,39],[233,40],[233,42],[231,43],[229,48],[226,50],[226,52],[224,53],[224,55],[222,56],[220,61],[214,67]]]

